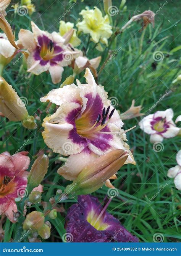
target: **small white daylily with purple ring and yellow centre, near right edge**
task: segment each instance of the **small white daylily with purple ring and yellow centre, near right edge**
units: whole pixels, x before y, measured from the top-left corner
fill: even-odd
[[[178,135],[180,128],[173,122],[173,110],[157,111],[155,114],[145,116],[139,126],[144,132],[150,134],[150,142],[162,142],[164,138],[173,138]]]

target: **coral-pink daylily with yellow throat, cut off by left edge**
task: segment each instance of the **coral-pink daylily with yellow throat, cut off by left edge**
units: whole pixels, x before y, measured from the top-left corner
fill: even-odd
[[[28,152],[10,155],[0,154],[0,215],[5,215],[15,222],[13,211],[17,212],[15,198],[26,194],[27,173],[30,159]]]

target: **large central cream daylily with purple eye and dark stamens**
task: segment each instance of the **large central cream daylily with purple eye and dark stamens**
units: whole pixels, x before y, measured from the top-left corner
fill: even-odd
[[[86,84],[75,84],[53,89],[41,102],[50,101],[60,106],[55,114],[46,117],[42,126],[44,141],[53,152],[71,155],[59,174],[74,180],[85,164],[113,149],[129,152],[126,164],[135,164],[118,112],[111,106],[103,86],[95,83],[86,68]],[[82,161],[83,160],[83,161]],[[67,174],[67,175],[66,175]]]

